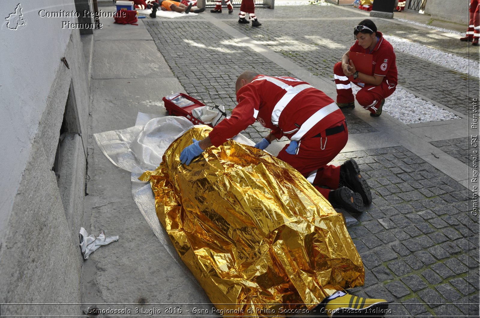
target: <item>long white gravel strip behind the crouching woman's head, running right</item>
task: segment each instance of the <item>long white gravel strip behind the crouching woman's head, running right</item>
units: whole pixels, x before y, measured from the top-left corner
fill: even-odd
[[[384,38],[390,42],[397,51],[408,53],[445,68],[453,69],[457,72],[465,73],[477,78],[480,77],[480,64],[477,61],[469,60],[465,57],[459,57],[455,54],[446,53],[392,35],[384,35]]]

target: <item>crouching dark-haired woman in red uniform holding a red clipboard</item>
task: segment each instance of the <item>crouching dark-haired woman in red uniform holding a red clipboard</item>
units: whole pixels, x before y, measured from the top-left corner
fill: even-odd
[[[357,93],[359,104],[371,112],[371,116],[380,116],[385,98],[392,95],[397,84],[396,56],[394,49],[382,33],[377,31],[375,23],[365,19],[355,26],[353,35],[357,40],[342,57],[342,61],[333,68],[336,84],[336,101],[340,108],[355,108],[350,81],[361,87]],[[373,55],[372,74],[357,71],[350,60],[350,52]]]

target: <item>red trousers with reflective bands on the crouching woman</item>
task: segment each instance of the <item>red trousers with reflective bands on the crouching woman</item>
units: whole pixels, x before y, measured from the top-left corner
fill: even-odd
[[[353,102],[353,93],[350,84],[350,80],[343,73],[342,62],[335,64],[333,68],[335,75],[335,84],[336,84],[336,102],[339,103],[348,103]],[[387,80],[384,80],[380,85],[374,86],[371,84],[364,84],[362,87],[361,84],[355,83],[355,85],[361,87],[361,90],[357,93],[357,102],[369,110],[372,113],[376,112],[377,106],[380,105],[382,99],[387,98],[392,95],[396,90],[396,85],[388,83]]]

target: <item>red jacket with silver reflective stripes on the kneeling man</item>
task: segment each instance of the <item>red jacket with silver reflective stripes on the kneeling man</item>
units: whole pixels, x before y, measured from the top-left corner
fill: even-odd
[[[310,138],[345,120],[335,102],[307,82],[291,77],[256,76],[237,92],[238,105],[209,136],[218,147],[258,120],[277,138]],[[323,110],[323,111],[322,111]],[[303,132],[302,132],[303,131]]]

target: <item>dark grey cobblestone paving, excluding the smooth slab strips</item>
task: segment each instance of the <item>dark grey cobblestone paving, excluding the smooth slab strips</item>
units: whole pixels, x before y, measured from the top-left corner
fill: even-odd
[[[145,21],[185,91],[205,104],[223,104],[228,110],[236,105],[235,80],[243,70],[291,74],[212,21],[221,19],[299,68],[332,80],[333,65],[353,43],[351,28],[345,25],[365,17],[335,6],[276,7],[257,10],[263,25],[252,28],[237,23],[235,10],[231,15],[205,12],[188,19]],[[375,19],[375,23],[384,34],[460,56],[468,54],[460,41],[444,35],[393,21]],[[467,114],[465,86],[478,91],[478,79],[404,53],[397,53],[397,66],[401,85]],[[356,115],[345,114],[350,134],[377,131]],[[257,124],[243,133],[257,142],[266,130]],[[431,144],[466,162],[464,139]],[[478,217],[468,212],[468,190],[402,146],[372,145],[368,150],[342,153],[337,160],[349,158],[360,164],[373,194],[373,203],[359,223],[349,227],[365,265],[365,285],[352,292],[391,301],[388,317],[478,316],[478,305],[473,304],[479,303],[479,224]]]

